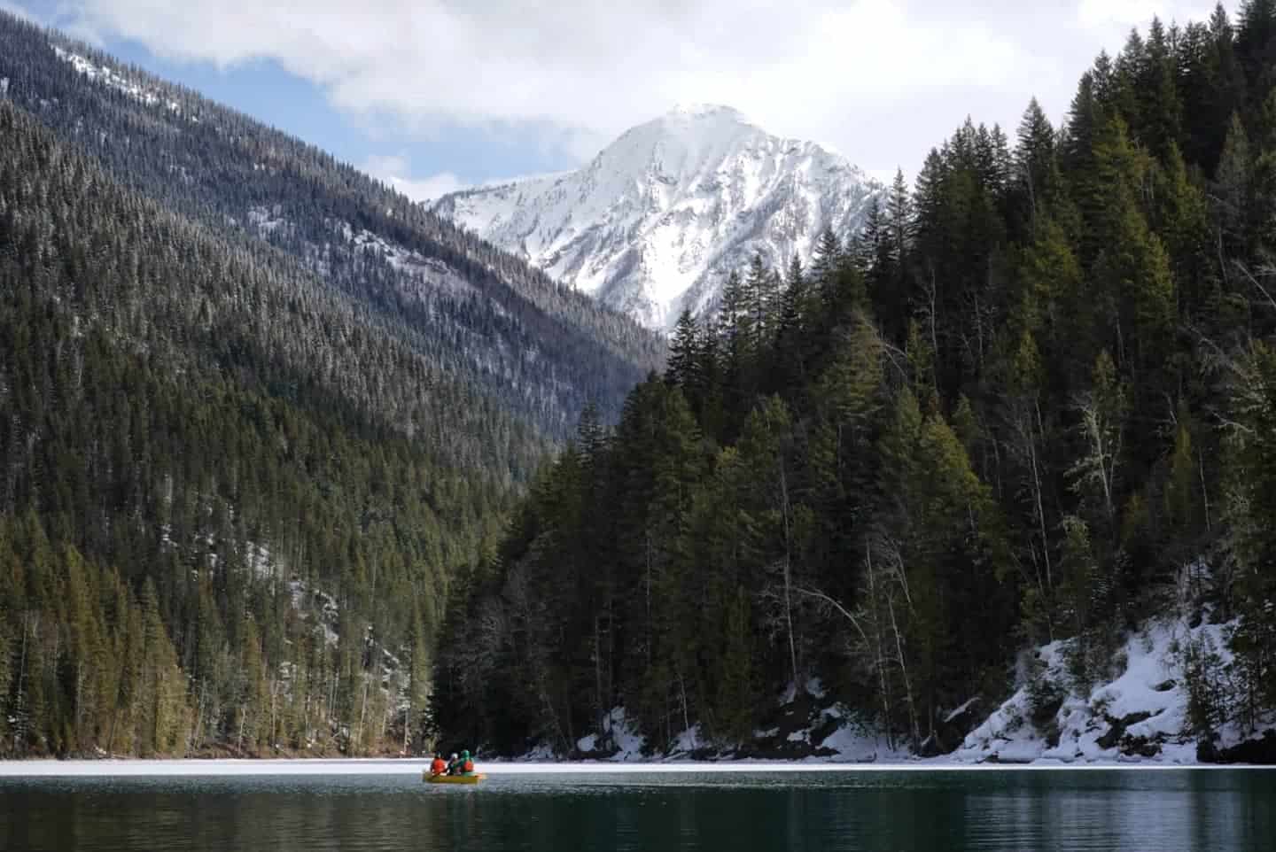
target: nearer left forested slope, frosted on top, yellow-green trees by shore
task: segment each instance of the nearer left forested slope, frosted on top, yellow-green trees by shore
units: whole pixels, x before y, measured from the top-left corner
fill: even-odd
[[[419,732],[450,571],[544,443],[277,250],[5,102],[0,139],[4,751]]]

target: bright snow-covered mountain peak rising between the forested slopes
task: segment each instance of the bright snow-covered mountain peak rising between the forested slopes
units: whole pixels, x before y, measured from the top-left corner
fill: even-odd
[[[587,166],[445,195],[434,209],[658,329],[712,306],[755,251],[809,261],[826,226],[857,230],[880,186],[841,156],[723,106],[625,131]]]

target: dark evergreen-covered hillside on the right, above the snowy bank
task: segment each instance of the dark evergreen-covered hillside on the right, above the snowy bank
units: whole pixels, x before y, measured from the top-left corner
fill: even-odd
[[[443,730],[753,735],[812,679],[934,753],[1017,649],[1072,684],[1185,601],[1189,724],[1276,708],[1276,3],[1132,33],[1063,126],[967,122],[865,232],[684,315],[449,610]],[[1188,570],[1191,565],[1206,570]],[[1028,676],[1023,672],[1020,677]],[[1042,700],[1049,701],[1049,696]]]

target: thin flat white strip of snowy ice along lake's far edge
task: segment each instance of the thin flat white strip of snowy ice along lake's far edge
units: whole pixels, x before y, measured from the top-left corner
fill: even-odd
[[[401,775],[417,774],[427,765],[421,759],[402,758],[338,758],[338,759],[217,759],[217,760],[4,760],[0,778],[161,778],[161,777],[234,777],[234,775]],[[1253,764],[1201,764],[1155,761],[1062,763],[958,763],[944,759],[891,763],[795,763],[768,760],[732,760],[717,763],[482,763],[489,775],[549,774],[731,774],[731,773],[882,773],[882,772],[1154,772],[1154,770],[1228,770],[1258,769],[1276,772],[1273,767]]]

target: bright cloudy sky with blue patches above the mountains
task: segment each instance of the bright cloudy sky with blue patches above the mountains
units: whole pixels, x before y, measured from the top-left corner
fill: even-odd
[[[1211,0],[0,0],[426,199],[723,103],[880,179]],[[1235,14],[1236,3],[1229,6]]]

